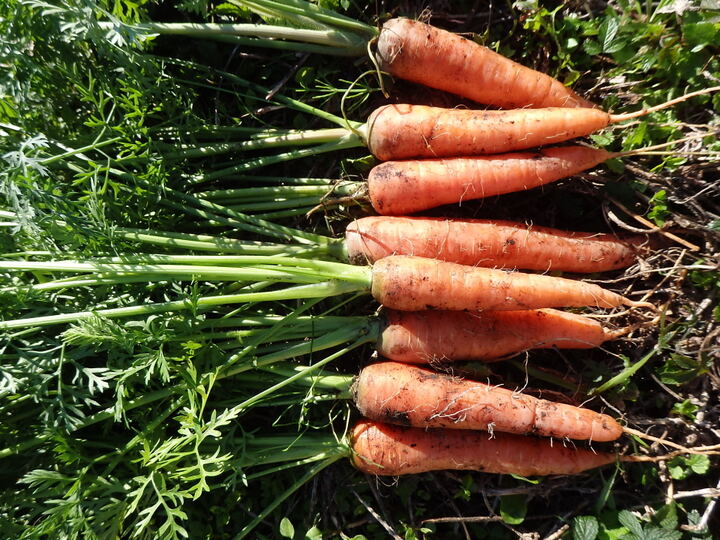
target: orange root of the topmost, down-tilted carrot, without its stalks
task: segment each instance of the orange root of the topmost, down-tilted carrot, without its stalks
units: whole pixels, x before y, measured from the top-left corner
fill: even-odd
[[[457,34],[397,18],[380,32],[380,68],[401,79],[504,108],[592,107],[560,81]]]

